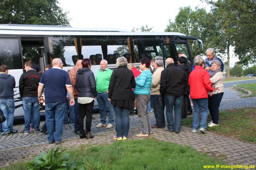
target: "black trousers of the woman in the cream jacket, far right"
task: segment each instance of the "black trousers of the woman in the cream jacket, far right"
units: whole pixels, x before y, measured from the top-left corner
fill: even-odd
[[[210,111],[210,115],[212,117],[212,123],[218,125],[219,124],[219,107],[220,102],[222,100],[224,93],[217,93],[210,97],[208,95],[208,109]]]

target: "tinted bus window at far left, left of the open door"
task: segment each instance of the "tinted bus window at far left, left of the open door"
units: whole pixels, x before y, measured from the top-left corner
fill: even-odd
[[[9,69],[22,69],[18,39],[0,38],[0,65],[3,64]]]

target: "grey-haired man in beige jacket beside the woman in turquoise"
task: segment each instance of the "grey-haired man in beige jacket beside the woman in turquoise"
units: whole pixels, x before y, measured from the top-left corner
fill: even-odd
[[[160,77],[161,73],[164,70],[163,60],[156,59],[154,64],[155,72],[152,75],[152,83],[150,86],[150,95],[152,97],[152,102],[154,103],[154,115],[156,118],[156,124],[152,128],[164,128],[165,119],[164,119],[164,98],[160,94]]]

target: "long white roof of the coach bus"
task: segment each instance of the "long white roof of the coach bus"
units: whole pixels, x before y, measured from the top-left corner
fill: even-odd
[[[117,28],[73,28],[70,26],[44,26],[0,24],[0,35],[63,35],[63,36],[185,36],[178,32],[128,32]]]

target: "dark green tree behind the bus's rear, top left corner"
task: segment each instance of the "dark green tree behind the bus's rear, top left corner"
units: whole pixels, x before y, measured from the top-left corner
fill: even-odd
[[[69,25],[58,0],[1,0],[0,24]]]

